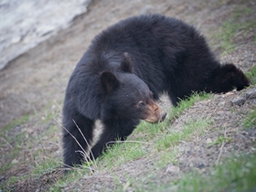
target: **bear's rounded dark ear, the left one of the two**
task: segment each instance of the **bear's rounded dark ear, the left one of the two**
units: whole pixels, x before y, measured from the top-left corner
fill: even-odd
[[[120,81],[110,71],[101,72],[101,88],[104,92],[110,93],[118,88]]]

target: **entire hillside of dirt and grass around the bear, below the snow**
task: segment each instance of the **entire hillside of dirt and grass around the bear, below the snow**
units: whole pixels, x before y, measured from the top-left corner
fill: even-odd
[[[210,176],[231,179],[225,180],[227,187],[212,181],[208,191],[217,186],[222,187],[219,191],[229,187],[242,191],[250,185],[255,189],[256,182],[251,184],[246,176],[256,173],[252,163],[256,162],[256,4],[94,0],[88,8],[69,28],[0,71],[0,191],[178,191],[186,186],[187,191],[196,191],[195,186],[203,186],[195,179],[198,175],[205,184],[212,181]],[[185,109],[173,108],[163,96],[159,104],[168,112],[165,123],[142,122],[128,142],[118,144],[90,168],[84,165],[64,176],[61,109],[72,70],[102,29],[129,16],[151,13],[175,16],[197,27],[221,62],[232,62],[247,72],[251,87],[197,95],[185,101]],[[99,123],[95,134],[100,132]],[[215,172],[219,165],[229,167],[225,163],[231,160],[242,162],[232,164],[239,174],[223,167],[223,173]]]

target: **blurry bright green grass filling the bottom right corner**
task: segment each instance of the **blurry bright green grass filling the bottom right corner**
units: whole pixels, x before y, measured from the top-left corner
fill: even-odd
[[[254,191],[255,178],[256,154],[233,156],[212,167],[207,176],[197,171],[187,174],[177,182],[177,191]]]

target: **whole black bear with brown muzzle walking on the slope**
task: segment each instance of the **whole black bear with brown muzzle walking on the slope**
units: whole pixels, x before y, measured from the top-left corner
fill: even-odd
[[[110,142],[125,140],[140,120],[163,121],[165,112],[155,104],[161,93],[176,105],[192,91],[240,91],[249,84],[233,64],[220,65],[194,27],[176,18],[150,15],[120,21],[92,40],[69,79],[64,164],[82,163],[80,151],[91,144],[96,120],[104,128],[91,159]]]

